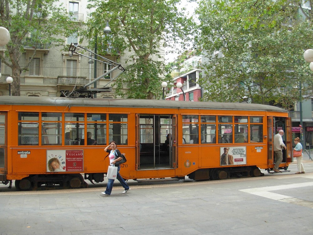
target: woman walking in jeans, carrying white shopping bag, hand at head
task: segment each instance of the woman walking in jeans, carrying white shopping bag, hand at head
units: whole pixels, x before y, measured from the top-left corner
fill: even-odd
[[[114,164],[114,165],[115,165],[116,162],[118,162],[118,161],[123,159],[120,150],[116,149],[116,147],[117,147],[116,146],[116,142],[115,141],[111,141],[110,144],[108,146],[106,146],[105,149],[104,149],[104,151],[109,153],[110,164]],[[111,150],[109,148],[111,148]],[[127,193],[127,191],[130,190],[130,187],[127,185],[125,180],[120,175],[120,169],[121,169],[120,165],[115,165],[115,166],[117,166],[116,179],[118,181],[120,181],[121,185],[125,189],[123,193]],[[102,193],[104,196],[110,196],[111,195],[111,191],[112,191],[112,188],[113,188],[113,183],[114,183],[114,180],[109,179],[108,185],[106,186],[106,190]]]

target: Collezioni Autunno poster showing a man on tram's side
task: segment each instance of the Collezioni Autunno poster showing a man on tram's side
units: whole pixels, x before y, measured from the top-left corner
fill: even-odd
[[[221,147],[220,154],[221,166],[247,164],[247,152],[245,146]]]

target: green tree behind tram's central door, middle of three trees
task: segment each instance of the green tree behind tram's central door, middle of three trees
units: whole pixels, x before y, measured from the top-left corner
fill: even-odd
[[[160,49],[188,42],[190,39],[186,32],[193,28],[192,20],[177,9],[179,0],[95,0],[90,3],[89,8],[96,8],[88,22],[91,43],[94,35],[102,32],[106,20],[109,20],[112,34],[97,37],[98,43],[119,48],[121,55],[125,52],[130,54],[126,61],[130,65],[115,82],[115,95],[160,98],[162,81],[167,81],[169,86],[172,83]],[[129,88],[126,93],[123,85]]]

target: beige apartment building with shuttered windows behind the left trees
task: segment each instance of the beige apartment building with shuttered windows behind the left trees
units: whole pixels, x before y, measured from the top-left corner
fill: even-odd
[[[88,4],[87,0],[61,0],[59,3],[62,3],[68,10],[69,15],[71,15],[70,20],[78,23],[85,22],[87,20],[88,13],[90,11],[86,8]],[[66,27],[66,25],[64,27]],[[21,74],[21,96],[60,97],[63,91],[73,91],[76,88],[93,81],[94,77],[99,77],[112,69],[112,66],[106,63],[96,62],[97,66],[95,72],[95,63],[90,64],[89,62],[91,61],[89,61],[89,58],[77,54],[71,55],[68,50],[64,50],[64,48],[69,48],[71,43],[79,42],[80,38],[77,34],[74,33],[68,38],[63,39],[64,45],[62,46],[52,44],[34,46],[32,43],[31,32],[29,33],[29,37],[23,42],[25,53],[22,55],[20,65],[26,65],[29,62],[35,49],[36,55],[30,62],[28,71],[22,72]],[[88,45],[87,41],[84,41],[80,44],[80,46],[88,47],[89,50],[94,51],[94,45]],[[102,48],[105,47],[104,45],[98,45],[98,47],[99,46]],[[131,52],[127,52],[121,56],[119,49],[112,48],[110,45],[107,45],[107,48],[104,50],[106,51],[106,54],[101,56],[115,61],[123,67],[126,66],[126,58],[128,58],[129,55],[127,53]],[[117,55],[116,53],[114,53],[115,55],[112,55],[112,50],[115,50]],[[76,51],[90,56],[90,53],[83,49],[77,49]],[[0,48],[0,53],[2,53],[2,55],[4,55],[4,52],[5,47]],[[91,55],[91,57],[94,57],[94,55]],[[12,76],[12,70],[0,61],[0,72],[2,74],[0,78],[0,95],[9,95],[10,87],[6,82],[6,78],[8,76]],[[121,70],[115,70],[110,75],[101,78],[96,82],[96,87],[111,86],[115,80],[108,84],[109,81],[121,72]],[[95,85],[92,84],[90,87],[94,88]],[[125,87],[125,89],[127,89],[127,87]],[[112,87],[111,92],[101,92],[98,93],[96,97],[111,98],[114,97],[114,91],[115,88]]]

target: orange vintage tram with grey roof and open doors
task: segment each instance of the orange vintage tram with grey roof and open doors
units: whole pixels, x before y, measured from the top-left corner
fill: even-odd
[[[285,131],[280,169],[292,161],[284,109],[243,103],[0,97],[0,181],[18,190],[102,182],[111,140],[125,179],[218,180],[264,175],[273,136]],[[92,145],[91,145],[92,144]],[[9,187],[10,187],[9,186]]]

